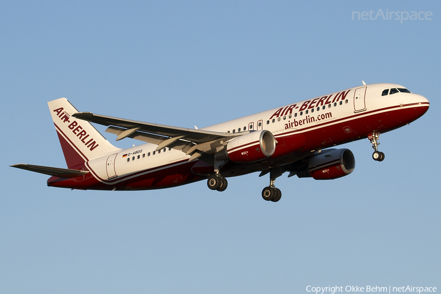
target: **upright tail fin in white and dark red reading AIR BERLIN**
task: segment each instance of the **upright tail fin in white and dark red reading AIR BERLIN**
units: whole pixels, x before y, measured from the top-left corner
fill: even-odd
[[[49,101],[48,105],[68,168],[120,150],[110,144],[91,123],[71,118],[78,110],[68,99],[59,98]]]

